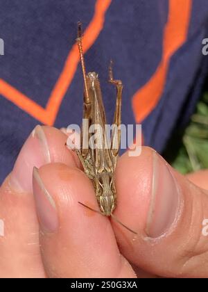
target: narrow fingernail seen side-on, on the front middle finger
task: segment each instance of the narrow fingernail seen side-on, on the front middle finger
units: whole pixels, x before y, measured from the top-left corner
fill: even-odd
[[[43,232],[54,232],[58,229],[58,214],[53,197],[46,190],[37,168],[33,168],[33,194],[37,217]]]

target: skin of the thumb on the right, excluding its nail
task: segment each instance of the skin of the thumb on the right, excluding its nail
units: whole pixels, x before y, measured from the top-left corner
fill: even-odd
[[[137,158],[124,154],[116,168],[118,206],[115,215],[138,232],[135,236],[112,222],[121,253],[153,275],[208,277],[208,240],[202,235],[202,221],[208,218],[207,192],[191,184],[171,166],[168,168],[180,187],[180,206],[175,222],[159,238],[150,238],[146,234],[153,152],[153,149],[143,147]]]

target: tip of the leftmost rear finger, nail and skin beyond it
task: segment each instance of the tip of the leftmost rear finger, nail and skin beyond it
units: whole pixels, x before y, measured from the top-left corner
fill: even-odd
[[[80,167],[75,153],[67,149],[67,136],[62,131],[49,126],[37,125],[28,136],[17,157],[10,184],[17,192],[32,193],[33,167],[60,162],[73,167]]]

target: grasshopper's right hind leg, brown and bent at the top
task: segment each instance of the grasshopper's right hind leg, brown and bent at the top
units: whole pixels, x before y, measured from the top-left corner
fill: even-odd
[[[109,82],[116,86],[116,109],[114,113],[114,129],[112,131],[111,147],[112,154],[116,157],[119,153],[120,144],[121,144],[121,99],[122,99],[122,90],[123,83],[121,80],[115,80],[112,71],[112,60],[110,61],[109,66]]]

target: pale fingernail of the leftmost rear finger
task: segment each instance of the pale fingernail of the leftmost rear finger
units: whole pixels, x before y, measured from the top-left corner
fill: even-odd
[[[32,193],[33,167],[50,163],[49,146],[44,130],[39,125],[24,143],[10,175],[10,187],[17,192]]]

